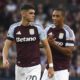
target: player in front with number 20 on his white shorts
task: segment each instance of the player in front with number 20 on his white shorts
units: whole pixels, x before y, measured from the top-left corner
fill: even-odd
[[[40,80],[40,49],[42,41],[48,58],[48,75],[52,77],[53,62],[52,54],[47,41],[47,36],[41,26],[34,24],[35,9],[26,4],[21,7],[21,21],[10,26],[7,39],[3,47],[3,66],[9,68],[8,51],[16,44],[17,61],[15,67],[15,80]]]

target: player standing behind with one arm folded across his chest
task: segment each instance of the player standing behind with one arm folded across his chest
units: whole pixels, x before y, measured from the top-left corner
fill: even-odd
[[[73,30],[64,23],[63,9],[54,9],[52,12],[53,24],[45,29],[53,55],[54,76],[48,79],[44,71],[42,80],[69,80],[69,63],[74,49],[75,36]]]

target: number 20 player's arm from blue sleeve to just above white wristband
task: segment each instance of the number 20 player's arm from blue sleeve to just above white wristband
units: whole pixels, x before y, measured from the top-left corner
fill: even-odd
[[[40,37],[40,40],[41,40],[41,46],[44,47],[45,50],[46,50],[48,63],[53,63],[52,54],[51,54],[51,50],[50,50],[50,47],[49,47],[49,44],[48,44],[46,32],[41,27],[38,27],[38,31],[39,31],[39,37]]]

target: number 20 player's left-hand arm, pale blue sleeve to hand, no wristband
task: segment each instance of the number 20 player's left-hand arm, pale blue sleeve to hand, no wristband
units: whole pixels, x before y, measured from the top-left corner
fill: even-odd
[[[8,33],[7,33],[7,39],[4,42],[4,47],[3,47],[3,66],[4,67],[9,67],[9,62],[8,62],[8,52],[9,48],[14,44],[14,25],[11,25]]]

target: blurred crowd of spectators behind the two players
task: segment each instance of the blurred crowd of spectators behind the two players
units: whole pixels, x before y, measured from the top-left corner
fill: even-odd
[[[10,68],[2,67],[2,48],[9,26],[20,21],[20,6],[26,3],[35,5],[35,23],[44,28],[52,23],[52,9],[65,9],[65,23],[74,31],[76,36],[75,49],[70,64],[70,80],[80,80],[80,0],[0,0],[0,80],[15,80],[16,49],[9,50]],[[46,61],[41,51],[41,64]],[[43,66],[44,67],[44,66]]]

